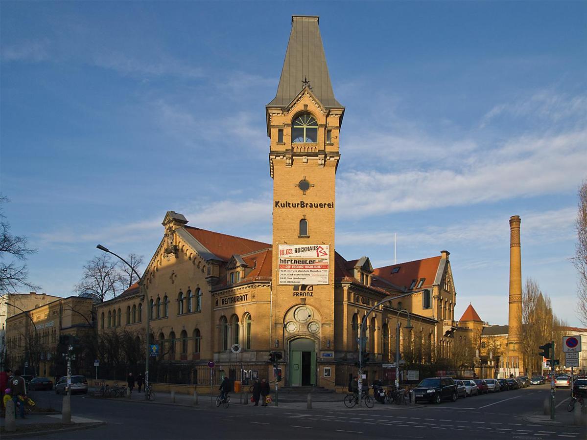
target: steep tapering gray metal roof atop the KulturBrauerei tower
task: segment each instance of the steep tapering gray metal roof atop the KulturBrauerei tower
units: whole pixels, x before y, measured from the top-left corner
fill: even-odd
[[[318,20],[316,16],[292,16],[292,31],[277,94],[267,107],[286,107],[302,91],[306,80],[324,107],[343,107],[332,91]]]

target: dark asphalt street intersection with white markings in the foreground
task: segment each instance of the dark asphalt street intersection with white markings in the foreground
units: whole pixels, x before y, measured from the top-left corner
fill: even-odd
[[[156,403],[129,403],[72,397],[75,415],[103,419],[107,425],[86,431],[44,435],[45,439],[259,439],[259,438],[398,438],[398,439],[585,439],[578,427],[530,424],[524,416],[542,408],[547,386],[524,388],[460,399],[441,405],[397,407],[376,404],[373,410],[344,407],[342,401],[328,410],[292,410],[232,404],[210,407],[200,401],[195,408]],[[37,393],[39,403],[60,407],[53,393]],[[557,392],[557,401],[568,397]]]

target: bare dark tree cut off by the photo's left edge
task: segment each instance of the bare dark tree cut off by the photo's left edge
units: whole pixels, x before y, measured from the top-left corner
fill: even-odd
[[[8,202],[8,197],[0,196],[0,206]],[[10,224],[0,208],[0,291],[16,292],[19,287],[37,289],[29,280],[29,272],[23,263],[28,255],[34,254],[36,249],[27,245],[26,237],[14,236],[10,231]]]

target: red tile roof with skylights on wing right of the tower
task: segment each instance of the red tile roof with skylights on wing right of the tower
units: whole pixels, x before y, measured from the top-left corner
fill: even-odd
[[[435,284],[441,260],[441,255],[438,255],[438,257],[379,267],[373,271],[373,275],[403,289],[409,289],[414,279],[420,281],[422,278],[424,278],[424,284],[421,287],[431,286]]]

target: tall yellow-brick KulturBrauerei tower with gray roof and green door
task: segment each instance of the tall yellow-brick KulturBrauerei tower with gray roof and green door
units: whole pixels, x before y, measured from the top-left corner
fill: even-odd
[[[276,96],[266,105],[273,179],[271,350],[286,384],[334,380],[335,178],[345,108],[317,16],[293,16]],[[326,377],[325,377],[326,376]]]

